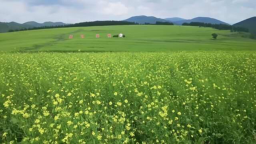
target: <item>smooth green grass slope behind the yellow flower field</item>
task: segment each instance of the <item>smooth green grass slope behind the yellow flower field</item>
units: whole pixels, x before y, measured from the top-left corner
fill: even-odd
[[[120,32],[126,38],[107,38]],[[218,33],[217,40],[212,40],[212,33]],[[74,39],[68,39],[71,34]],[[230,36],[228,30],[193,26],[94,26],[0,34],[0,52],[237,51],[256,50],[255,45],[256,40]]]

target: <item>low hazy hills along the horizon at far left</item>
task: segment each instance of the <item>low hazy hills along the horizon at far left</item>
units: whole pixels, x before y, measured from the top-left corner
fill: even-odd
[[[63,22],[44,22],[42,24],[38,22],[25,22],[24,24],[19,24],[17,22],[0,22],[0,33],[8,32],[9,30],[20,30],[22,28],[34,28],[42,26],[60,26],[67,25]]]

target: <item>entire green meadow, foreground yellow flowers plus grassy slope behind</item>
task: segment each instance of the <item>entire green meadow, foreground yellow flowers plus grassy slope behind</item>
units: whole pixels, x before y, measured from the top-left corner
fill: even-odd
[[[254,144],[256,40],[244,35],[191,26],[0,34],[0,143]]]

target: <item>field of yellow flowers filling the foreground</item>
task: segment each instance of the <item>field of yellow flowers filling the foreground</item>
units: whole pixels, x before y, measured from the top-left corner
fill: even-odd
[[[256,53],[0,54],[0,143],[252,144]]]

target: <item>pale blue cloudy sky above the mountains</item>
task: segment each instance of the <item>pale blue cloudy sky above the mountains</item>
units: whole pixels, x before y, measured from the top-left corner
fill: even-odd
[[[256,16],[256,0],[0,0],[0,22],[78,23],[131,16],[205,16],[234,24]]]

